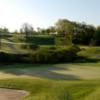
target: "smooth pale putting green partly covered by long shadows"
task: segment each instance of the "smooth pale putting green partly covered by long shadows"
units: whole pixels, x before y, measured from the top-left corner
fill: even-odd
[[[59,80],[100,79],[100,64],[15,64],[0,68],[0,79],[34,77]]]

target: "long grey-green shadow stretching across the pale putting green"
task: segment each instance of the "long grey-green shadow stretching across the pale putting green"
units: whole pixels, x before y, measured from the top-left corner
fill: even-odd
[[[34,67],[34,65],[28,65],[27,67],[20,67],[11,65],[11,66],[3,66],[3,68],[0,68],[0,71],[7,74],[12,75],[27,75],[27,76],[33,76],[33,77],[39,77],[39,78],[47,78],[47,79],[55,79],[55,80],[81,80],[78,76],[72,75],[72,74],[60,74],[54,72],[55,70],[69,70],[68,68],[59,67],[52,65],[44,65],[44,66],[37,66]],[[24,66],[22,64],[22,66]]]

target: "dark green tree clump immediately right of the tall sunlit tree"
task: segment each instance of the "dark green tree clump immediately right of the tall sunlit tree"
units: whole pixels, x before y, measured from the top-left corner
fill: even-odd
[[[85,23],[74,23],[73,43],[90,44],[95,34],[95,27]]]

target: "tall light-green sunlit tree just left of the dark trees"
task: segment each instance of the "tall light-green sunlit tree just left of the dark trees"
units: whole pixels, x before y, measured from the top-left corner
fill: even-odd
[[[59,19],[55,24],[56,31],[64,36],[64,40],[67,44],[72,43],[73,23],[67,19]]]

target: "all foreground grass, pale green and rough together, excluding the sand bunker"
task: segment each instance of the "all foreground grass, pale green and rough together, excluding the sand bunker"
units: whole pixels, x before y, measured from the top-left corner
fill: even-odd
[[[99,66],[100,63],[1,65],[0,73],[6,77],[0,79],[0,87],[28,91],[30,95],[24,100],[100,100]],[[85,71],[88,75],[91,71],[98,74],[91,79]]]

